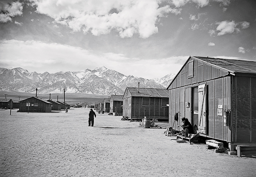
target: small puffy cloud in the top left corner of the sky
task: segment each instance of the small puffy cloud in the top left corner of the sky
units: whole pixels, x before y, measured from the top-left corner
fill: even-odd
[[[12,2],[11,4],[4,4],[0,7],[0,22],[12,21],[12,17],[22,15],[22,3]]]

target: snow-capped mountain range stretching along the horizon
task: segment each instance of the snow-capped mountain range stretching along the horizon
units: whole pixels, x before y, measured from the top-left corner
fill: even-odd
[[[123,94],[126,87],[166,88],[174,78],[169,74],[161,79],[143,79],[134,76],[125,76],[106,67],[97,67],[94,70],[75,72],[58,72],[43,74],[17,67],[13,69],[0,67],[0,90],[35,93],[89,93],[89,94]]]

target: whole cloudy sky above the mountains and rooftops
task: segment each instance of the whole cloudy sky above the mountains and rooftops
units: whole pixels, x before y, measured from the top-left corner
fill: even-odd
[[[256,60],[255,0],[1,0],[0,67],[146,79],[189,56]]]

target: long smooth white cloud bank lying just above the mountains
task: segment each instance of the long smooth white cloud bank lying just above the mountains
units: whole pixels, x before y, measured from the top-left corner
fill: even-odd
[[[22,67],[29,72],[56,73],[105,66],[126,76],[133,75],[146,79],[177,73],[189,58],[189,56],[171,56],[140,59],[129,58],[122,53],[98,55],[79,47],[39,41],[3,40],[0,41],[0,48],[3,51],[0,58],[1,67]]]

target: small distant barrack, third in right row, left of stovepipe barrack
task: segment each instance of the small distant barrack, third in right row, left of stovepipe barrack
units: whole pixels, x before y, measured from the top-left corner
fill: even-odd
[[[122,95],[111,95],[110,96],[110,112],[113,115],[116,112],[116,115],[123,115],[122,112],[123,99]]]

